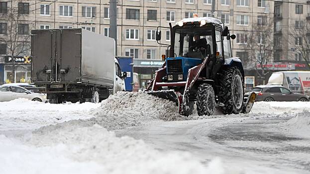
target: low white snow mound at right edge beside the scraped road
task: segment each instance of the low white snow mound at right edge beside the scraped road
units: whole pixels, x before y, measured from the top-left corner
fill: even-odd
[[[302,138],[310,138],[310,111],[304,110],[287,122],[279,123],[279,129]]]

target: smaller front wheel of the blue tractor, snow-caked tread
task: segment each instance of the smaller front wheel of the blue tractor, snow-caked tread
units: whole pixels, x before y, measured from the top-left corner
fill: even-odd
[[[199,116],[212,115],[214,113],[215,94],[211,85],[200,85],[197,90],[196,100],[197,112]]]

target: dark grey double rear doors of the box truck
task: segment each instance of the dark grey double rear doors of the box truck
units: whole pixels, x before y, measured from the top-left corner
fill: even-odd
[[[81,29],[33,30],[31,34],[33,82],[79,80]]]

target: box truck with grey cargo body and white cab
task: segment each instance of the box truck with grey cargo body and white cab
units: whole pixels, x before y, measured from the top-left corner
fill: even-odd
[[[124,90],[115,41],[85,29],[31,31],[31,81],[52,103],[99,102]]]

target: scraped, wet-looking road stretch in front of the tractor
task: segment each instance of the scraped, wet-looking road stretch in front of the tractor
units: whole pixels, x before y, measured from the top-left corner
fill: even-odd
[[[242,120],[242,122],[241,122]],[[309,174],[310,139],[274,127],[285,118],[225,118],[160,122],[118,135],[142,139],[160,151],[191,152],[203,163],[219,157],[227,169],[247,174]]]

